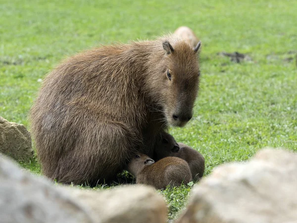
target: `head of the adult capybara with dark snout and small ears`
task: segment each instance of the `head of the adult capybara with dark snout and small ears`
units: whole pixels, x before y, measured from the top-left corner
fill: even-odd
[[[172,126],[184,126],[193,115],[199,84],[197,52],[200,42],[193,48],[186,41],[174,45],[162,43],[165,58],[162,79],[159,81],[161,100],[167,122]],[[174,46],[174,47],[173,47]]]

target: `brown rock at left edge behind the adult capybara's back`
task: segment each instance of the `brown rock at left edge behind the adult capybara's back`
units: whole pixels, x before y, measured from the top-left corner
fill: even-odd
[[[16,161],[29,162],[33,158],[31,137],[22,124],[0,117],[0,153]]]

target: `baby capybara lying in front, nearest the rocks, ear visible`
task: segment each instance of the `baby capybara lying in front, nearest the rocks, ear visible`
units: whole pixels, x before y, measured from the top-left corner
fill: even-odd
[[[136,177],[136,183],[164,189],[167,185],[180,186],[192,180],[189,165],[180,158],[166,157],[154,163],[145,154],[136,156],[128,164],[128,171]]]

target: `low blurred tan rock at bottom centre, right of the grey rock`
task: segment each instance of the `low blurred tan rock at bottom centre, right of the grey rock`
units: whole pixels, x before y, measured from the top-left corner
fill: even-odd
[[[105,191],[67,188],[71,197],[91,209],[102,223],[166,223],[167,207],[148,186],[122,186]]]

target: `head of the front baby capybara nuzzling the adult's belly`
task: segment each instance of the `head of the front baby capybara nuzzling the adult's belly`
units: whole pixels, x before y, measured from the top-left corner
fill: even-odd
[[[129,162],[127,169],[128,171],[134,175],[137,176],[138,173],[146,166],[152,165],[154,161],[150,159],[145,154],[136,154]]]

